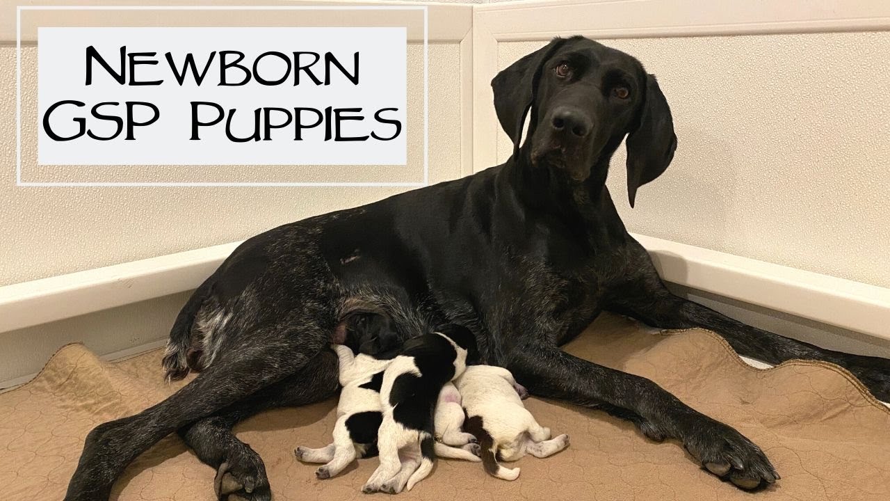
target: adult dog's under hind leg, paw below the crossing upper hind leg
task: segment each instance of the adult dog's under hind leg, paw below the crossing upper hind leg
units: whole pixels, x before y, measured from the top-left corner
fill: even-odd
[[[269,492],[263,460],[235,437],[231,431],[234,424],[266,409],[303,406],[334,396],[338,388],[336,377],[336,357],[324,349],[303,371],[289,375],[213,416],[183,426],[178,431],[180,437],[195,451],[198,459],[217,471],[216,496],[224,498],[234,494],[259,500]],[[315,450],[323,452],[324,449]],[[330,457],[320,458],[318,463],[327,463],[333,454],[331,444]],[[253,492],[248,493],[247,489]]]

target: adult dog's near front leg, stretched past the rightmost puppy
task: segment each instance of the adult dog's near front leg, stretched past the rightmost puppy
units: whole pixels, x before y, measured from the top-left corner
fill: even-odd
[[[686,406],[654,382],[544,343],[517,347],[507,368],[532,393],[587,407],[619,407],[651,439],[679,439],[708,471],[742,489],[779,478],[763,451],[730,426]]]

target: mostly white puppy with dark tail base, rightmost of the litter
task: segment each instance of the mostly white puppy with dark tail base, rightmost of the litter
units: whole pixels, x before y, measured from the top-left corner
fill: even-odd
[[[473,433],[481,446],[482,465],[486,472],[504,480],[516,480],[519,468],[498,464],[516,461],[526,452],[546,457],[569,445],[569,436],[550,439],[550,429],[535,421],[522,405],[528,396],[513,374],[503,367],[473,365],[455,381],[466,410],[464,430]]]

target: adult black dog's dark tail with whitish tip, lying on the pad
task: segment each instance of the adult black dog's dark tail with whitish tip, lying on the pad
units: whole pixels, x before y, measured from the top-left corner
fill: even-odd
[[[192,339],[192,326],[195,324],[195,316],[210,295],[214,275],[210,275],[195,292],[192,292],[170,329],[170,339],[167,340],[164,359],[161,361],[167,381],[181,380],[189,374],[190,368],[197,368],[201,352],[192,348],[195,345]]]

